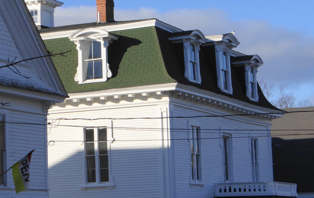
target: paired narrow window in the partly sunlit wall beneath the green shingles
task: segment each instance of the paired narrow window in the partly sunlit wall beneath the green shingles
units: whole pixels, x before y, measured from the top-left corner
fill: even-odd
[[[87,183],[109,182],[109,142],[107,128],[86,128],[85,162]]]

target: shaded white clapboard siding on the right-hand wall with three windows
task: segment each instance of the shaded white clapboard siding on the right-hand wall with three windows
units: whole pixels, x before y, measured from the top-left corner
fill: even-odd
[[[213,108],[213,107],[210,107]],[[199,116],[214,115],[217,109],[211,109],[207,106],[174,106],[174,116]],[[202,111],[199,109],[203,109]],[[221,112],[222,114],[230,114]],[[202,184],[190,184],[191,159],[190,159],[190,142],[188,140],[175,141],[175,164],[176,164],[176,194],[177,197],[214,197],[214,183],[222,183],[224,181],[223,174],[223,156],[222,156],[222,140],[206,139],[221,138],[222,133],[232,135],[232,162],[233,162],[233,181],[234,182],[251,182],[251,153],[250,139],[251,136],[261,135],[258,129],[267,130],[264,121],[257,118],[232,118],[232,117],[216,117],[216,118],[175,118],[173,121],[175,129],[187,129],[188,123],[199,123],[196,126],[201,127],[201,161],[202,161]],[[259,123],[260,122],[260,123]],[[214,129],[214,130],[202,130]],[[220,130],[219,130],[220,129]],[[233,130],[224,130],[233,129]],[[252,131],[241,131],[239,129],[252,129]],[[263,133],[267,133],[263,131]],[[175,132],[175,139],[188,138],[188,132],[180,130]],[[255,137],[258,139],[259,149],[259,169],[260,180],[270,180],[272,167],[269,166],[269,144],[267,137]]]

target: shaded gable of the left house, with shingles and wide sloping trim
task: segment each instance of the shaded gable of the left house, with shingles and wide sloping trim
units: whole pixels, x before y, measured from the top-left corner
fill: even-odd
[[[0,0],[0,85],[65,98],[67,93],[23,0]],[[16,57],[16,58],[15,58]],[[12,71],[14,70],[14,71]]]

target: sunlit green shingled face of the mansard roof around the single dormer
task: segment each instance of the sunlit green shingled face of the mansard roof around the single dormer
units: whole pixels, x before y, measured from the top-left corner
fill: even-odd
[[[72,50],[67,53],[67,57],[52,57],[68,93],[176,82],[165,69],[154,26],[110,33],[119,36],[108,47],[112,77],[106,82],[80,85],[74,80],[78,66],[78,51],[74,42],[68,38],[45,40],[49,51]]]

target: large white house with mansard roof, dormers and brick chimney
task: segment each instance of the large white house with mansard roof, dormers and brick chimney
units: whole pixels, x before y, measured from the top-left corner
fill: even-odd
[[[296,196],[273,181],[271,120],[258,55],[232,33],[157,19],[41,29],[69,98],[49,110],[50,197]],[[225,116],[239,114],[237,116]]]

